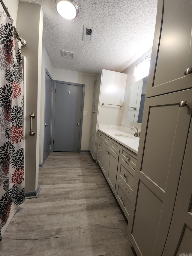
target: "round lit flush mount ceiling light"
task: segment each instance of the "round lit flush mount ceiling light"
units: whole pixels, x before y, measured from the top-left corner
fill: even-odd
[[[74,20],[79,13],[79,7],[73,0],[56,0],[55,8],[66,20]]]

